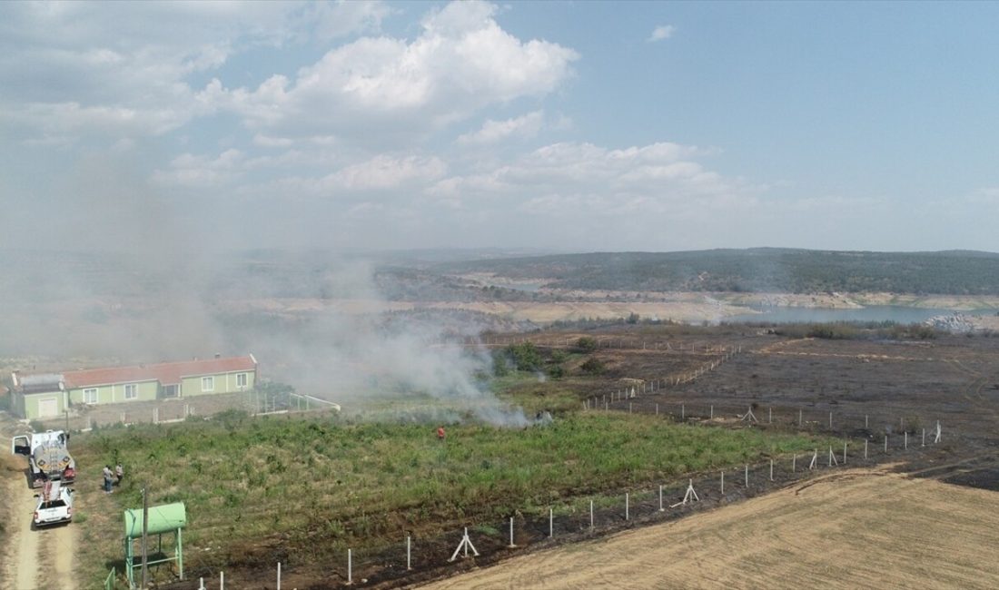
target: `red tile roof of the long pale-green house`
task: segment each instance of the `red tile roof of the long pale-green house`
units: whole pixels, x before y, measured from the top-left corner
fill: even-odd
[[[252,354],[248,354],[247,356],[209,358],[208,360],[68,370],[63,373],[63,380],[67,389],[153,380],[160,381],[164,385],[172,385],[180,383],[182,377],[251,371],[256,368],[257,360]]]

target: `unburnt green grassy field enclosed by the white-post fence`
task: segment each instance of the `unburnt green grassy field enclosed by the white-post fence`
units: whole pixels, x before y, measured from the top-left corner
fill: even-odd
[[[339,555],[829,444],[597,412],[523,429],[449,426],[444,442],[434,424],[342,420],[233,412],[74,437],[82,469],[121,460],[128,473],[110,496],[96,484],[88,490],[106,514],[84,523],[87,538],[99,542],[83,545],[83,561],[120,558],[120,510],[142,505],[142,482],[151,504],[187,504],[187,562],[218,567],[243,545],[280,546],[293,562]]]

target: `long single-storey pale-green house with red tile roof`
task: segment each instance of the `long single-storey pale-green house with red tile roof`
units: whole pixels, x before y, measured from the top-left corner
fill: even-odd
[[[11,410],[28,419],[63,415],[75,405],[234,393],[257,383],[253,354],[62,373],[11,374]]]

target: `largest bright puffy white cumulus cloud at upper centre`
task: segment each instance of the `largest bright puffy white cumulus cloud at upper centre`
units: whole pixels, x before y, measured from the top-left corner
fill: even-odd
[[[333,49],[294,80],[276,75],[217,103],[253,129],[284,136],[369,139],[420,134],[521,97],[540,97],[571,75],[578,55],[500,28],[496,6],[455,2],[428,15],[413,41],[365,37]]]

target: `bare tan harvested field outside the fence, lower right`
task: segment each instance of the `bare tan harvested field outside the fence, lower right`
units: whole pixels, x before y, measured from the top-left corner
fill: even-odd
[[[999,588],[999,493],[830,474],[428,588]]]

